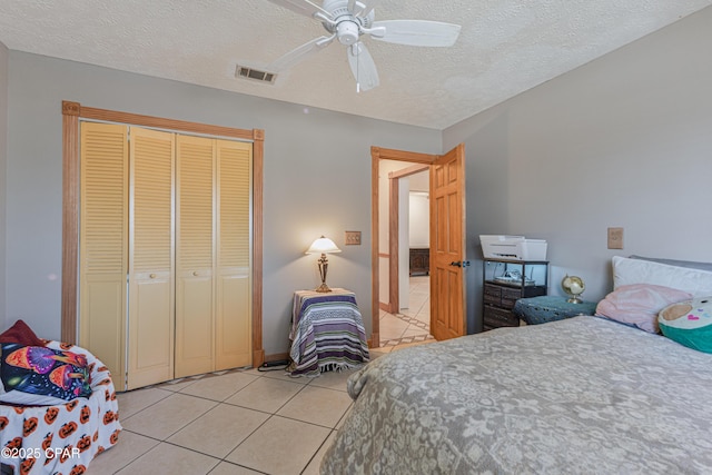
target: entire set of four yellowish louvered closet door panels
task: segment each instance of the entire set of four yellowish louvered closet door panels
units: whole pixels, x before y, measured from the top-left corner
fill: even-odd
[[[251,364],[251,144],[86,122],[80,147],[82,346],[127,389]]]

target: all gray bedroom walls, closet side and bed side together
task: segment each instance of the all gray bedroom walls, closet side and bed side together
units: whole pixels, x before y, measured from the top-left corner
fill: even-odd
[[[285,352],[291,293],[317,284],[304,250],[320,234],[360,247],[329,257],[329,284],[353,288],[370,325],[372,145],[467,155],[468,328],[481,314],[481,234],[545,238],[551,290],[582,276],[584,297],[611,288],[612,256],[712,261],[712,8],[442,132],[0,50],[0,174],[7,160],[0,279],[6,324],[59,336],[61,100],[266,130],[265,349]],[[7,110],[6,110],[7,109]],[[11,117],[7,138],[2,120]],[[7,147],[4,141],[7,140]],[[441,145],[442,142],[442,145]],[[3,157],[7,150],[7,157]],[[317,192],[317,190],[323,190]],[[606,228],[625,247],[606,249]],[[1,321],[0,321],[1,323]],[[370,330],[370,328],[368,328]]]

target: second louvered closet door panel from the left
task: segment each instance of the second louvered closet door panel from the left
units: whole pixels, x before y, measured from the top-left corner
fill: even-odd
[[[130,130],[130,389],[174,378],[175,135]]]

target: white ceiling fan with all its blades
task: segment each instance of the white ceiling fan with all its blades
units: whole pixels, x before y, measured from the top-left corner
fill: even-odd
[[[335,39],[346,46],[346,55],[356,90],[366,91],[378,86],[378,71],[366,44],[364,34],[374,40],[416,47],[449,47],[459,34],[459,24],[428,20],[375,21],[374,7],[378,0],[324,0],[322,7],[309,0],[269,0],[280,7],[322,22],[328,36],[315,38],[275,60],[267,70],[284,71],[299,61],[317,53]]]

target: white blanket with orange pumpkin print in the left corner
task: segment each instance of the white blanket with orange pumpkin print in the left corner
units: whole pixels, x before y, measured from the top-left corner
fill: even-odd
[[[44,393],[43,396],[34,389],[27,389],[28,392],[22,395],[17,388],[11,390],[8,387],[11,377],[7,377],[6,374],[6,359],[16,352],[27,355],[30,348],[32,350],[40,348],[46,353],[43,355],[47,356],[46,359],[57,365],[57,368],[72,367],[72,372],[77,372],[77,368],[86,367],[86,374],[89,376],[85,383],[87,393],[80,393],[77,389],[77,393],[82,396],[86,394],[86,397],[75,397],[71,400],[53,404],[0,404],[0,447],[2,447],[0,463],[3,469],[12,467],[13,472],[10,473],[16,475],[82,474],[95,456],[111,448],[118,442],[121,425],[113,383],[109,369],[87,349],[59,342],[39,342],[41,345],[38,346],[18,343],[0,344],[3,352],[2,383],[4,384],[0,397],[38,397],[40,398],[37,399],[38,403],[43,403],[41,397],[57,396],[57,393]],[[65,365],[57,364],[52,359],[53,355],[60,355],[57,358],[70,355],[75,360]],[[34,360],[38,362],[41,357],[42,355],[36,354]],[[17,365],[14,360],[18,358],[12,359]],[[26,359],[31,360],[29,357]],[[27,360],[21,366],[27,366]],[[41,368],[39,370],[43,373]],[[28,377],[27,374],[32,376]],[[26,372],[23,377],[32,383],[32,377],[41,376],[44,375],[32,370]],[[65,376],[72,377],[72,375]]]

